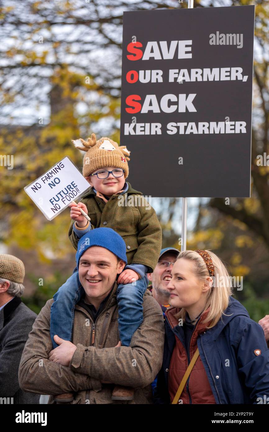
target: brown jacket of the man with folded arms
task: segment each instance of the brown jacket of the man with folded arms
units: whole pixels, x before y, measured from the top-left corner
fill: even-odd
[[[69,366],[49,360],[52,347],[48,300],[35,320],[19,365],[22,390],[53,395],[74,392],[71,403],[115,403],[114,384],[136,388],[134,399],[124,403],[152,403],[151,383],[162,365],[164,322],[160,306],[149,290],[144,294],[143,322],[133,334],[130,346],[115,348],[118,330],[117,283],[104,309],[95,321],[89,312],[76,305],[72,342],[77,349]],[[114,384],[102,384],[109,381]],[[120,402],[119,402],[120,403]]]

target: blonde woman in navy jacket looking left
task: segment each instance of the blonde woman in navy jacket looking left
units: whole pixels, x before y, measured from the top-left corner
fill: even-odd
[[[231,296],[230,285],[226,267],[211,251],[178,254],[167,286],[171,308],[155,403],[269,402],[263,329]],[[193,368],[186,374],[188,365]]]

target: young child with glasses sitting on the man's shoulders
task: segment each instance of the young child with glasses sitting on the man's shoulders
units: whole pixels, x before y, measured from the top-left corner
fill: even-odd
[[[95,134],[87,142],[80,138],[74,145],[85,151],[83,175],[92,189],[77,206],[70,204],[73,219],[69,238],[77,249],[79,238],[98,227],[112,228],[126,243],[127,265],[117,279],[119,333],[123,346],[129,346],[134,332],[143,321],[143,295],[147,289],[146,273],[152,273],[161,251],[161,226],[155,210],[126,182],[129,174],[130,152],[109,138],[96,141]],[[81,146],[83,144],[83,146]],[[142,174],[142,173],[141,173]],[[82,216],[84,210],[91,219]],[[72,339],[74,308],[84,289],[79,282],[78,269],[54,294],[51,305],[51,340],[57,347],[54,335],[64,340]],[[117,398],[118,387],[112,399]],[[133,389],[125,391],[126,399],[133,398]],[[62,395],[61,395],[62,396]]]

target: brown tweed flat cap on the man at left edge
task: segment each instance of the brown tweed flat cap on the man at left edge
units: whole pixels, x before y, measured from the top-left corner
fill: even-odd
[[[23,262],[13,255],[0,254],[0,278],[23,283],[25,268]]]

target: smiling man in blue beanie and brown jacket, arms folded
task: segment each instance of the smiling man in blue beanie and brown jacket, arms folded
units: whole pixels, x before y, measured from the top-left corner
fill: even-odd
[[[164,344],[158,303],[146,290],[142,324],[134,332],[130,346],[122,346],[117,278],[127,263],[123,238],[110,228],[93,229],[79,240],[76,261],[83,294],[74,304],[72,339],[55,335],[58,346],[53,349],[50,321],[54,299],[48,300],[22,353],[20,387],[50,394],[48,403],[152,403],[151,382],[161,368]],[[132,388],[132,400],[124,392],[112,400],[115,384]]]

